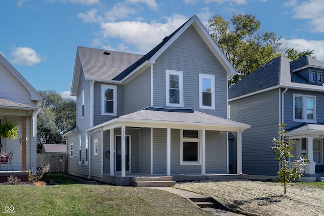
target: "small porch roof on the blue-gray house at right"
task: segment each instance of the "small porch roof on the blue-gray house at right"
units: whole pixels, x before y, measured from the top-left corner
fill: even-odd
[[[306,137],[324,138],[324,123],[302,123],[287,129],[287,137],[299,139]]]

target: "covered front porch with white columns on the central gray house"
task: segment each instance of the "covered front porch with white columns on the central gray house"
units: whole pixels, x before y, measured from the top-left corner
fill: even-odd
[[[241,133],[250,127],[247,124],[192,109],[150,107],[89,132],[98,127],[104,133],[103,182],[132,185],[132,179],[141,176],[172,181],[244,178]],[[234,175],[228,174],[228,132],[237,134]]]

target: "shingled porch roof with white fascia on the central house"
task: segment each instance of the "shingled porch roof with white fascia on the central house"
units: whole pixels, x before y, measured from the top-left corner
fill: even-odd
[[[154,127],[178,129],[206,129],[220,132],[242,132],[251,126],[227,120],[193,109],[166,109],[148,107],[146,109],[119,116],[110,121],[91,127],[87,132],[102,128],[107,131],[121,126]]]

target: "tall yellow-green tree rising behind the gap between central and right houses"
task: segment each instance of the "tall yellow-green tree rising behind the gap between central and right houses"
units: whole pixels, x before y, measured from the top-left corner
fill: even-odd
[[[260,21],[252,15],[233,15],[230,22],[216,15],[207,30],[237,71],[229,85],[280,55],[281,43],[274,32],[259,32]]]

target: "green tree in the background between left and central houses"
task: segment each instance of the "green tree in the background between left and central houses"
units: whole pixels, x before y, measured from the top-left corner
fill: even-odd
[[[63,99],[55,91],[39,91],[46,100],[37,116],[37,152],[43,144],[65,144],[62,134],[75,125],[76,102]]]

